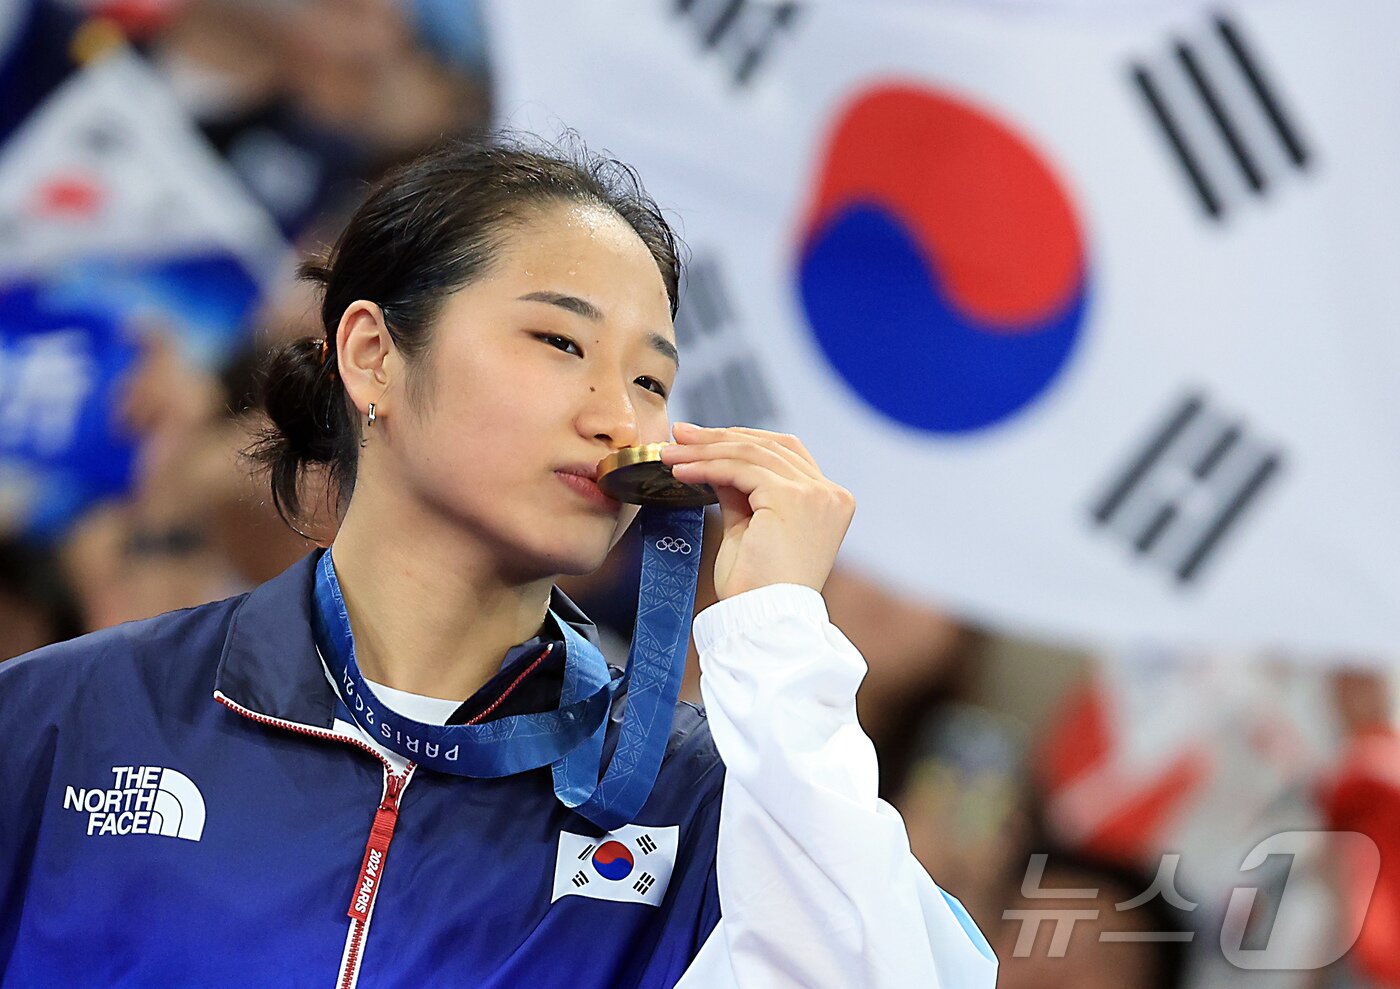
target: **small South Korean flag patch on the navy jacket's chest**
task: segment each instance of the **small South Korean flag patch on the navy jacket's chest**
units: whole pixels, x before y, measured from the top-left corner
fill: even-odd
[[[629,824],[599,838],[559,834],[554,895],[615,899],[619,904],[661,906],[676,866],[680,828],[643,828]]]

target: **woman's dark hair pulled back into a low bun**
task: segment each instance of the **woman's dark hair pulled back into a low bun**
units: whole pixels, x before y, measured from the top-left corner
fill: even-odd
[[[274,349],[262,368],[269,423],[246,452],[267,471],[283,521],[297,530],[309,469],[325,469],[336,510],[354,489],[363,424],[336,367],[346,308],[361,298],[379,305],[414,398],[414,368],[447,297],[486,272],[512,224],[554,202],[606,206],[626,220],[655,258],[676,314],[676,238],[631,167],[577,139],[566,151],[497,134],[452,140],[395,168],[370,189],[335,247],[298,269],[321,290],[321,335]]]

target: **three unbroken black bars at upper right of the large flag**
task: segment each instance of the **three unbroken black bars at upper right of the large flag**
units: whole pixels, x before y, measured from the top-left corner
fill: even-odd
[[[1131,74],[1201,209],[1219,220],[1232,193],[1264,195],[1312,151],[1239,28],[1225,17],[1212,27],[1205,43],[1177,39],[1165,69],[1137,62]]]

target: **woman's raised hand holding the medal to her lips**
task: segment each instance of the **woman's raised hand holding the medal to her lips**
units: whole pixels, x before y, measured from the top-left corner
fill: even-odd
[[[714,563],[722,601],[766,584],[826,584],[855,497],[825,476],[795,436],[676,423],[661,459],[679,480],[720,496],[724,537]]]

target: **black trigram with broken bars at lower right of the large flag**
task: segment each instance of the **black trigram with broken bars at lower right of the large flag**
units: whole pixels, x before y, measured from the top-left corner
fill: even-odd
[[[1277,448],[1190,395],[1109,485],[1093,506],[1093,524],[1124,537],[1138,556],[1186,584],[1281,466]]]

